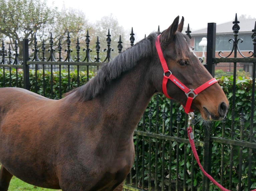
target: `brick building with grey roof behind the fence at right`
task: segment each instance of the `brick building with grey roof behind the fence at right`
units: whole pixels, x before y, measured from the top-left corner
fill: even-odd
[[[256,19],[243,19],[239,20],[240,23],[238,23],[240,29],[238,32],[238,39],[241,39],[238,41],[238,48],[239,52],[237,52],[237,57],[242,58],[251,56],[253,52],[253,41],[252,41],[252,30],[254,29],[256,25]],[[233,21],[218,24],[216,25],[216,58],[220,58],[219,55],[223,57],[227,57],[233,49],[233,40],[234,39],[234,32],[232,30],[232,27],[234,26]],[[194,47],[194,51],[197,54],[198,57],[203,58],[204,55],[206,57],[206,47],[205,47],[205,53],[203,54],[204,46],[199,46],[199,43],[202,41],[202,38],[207,38],[207,28],[203,28],[200,30],[195,30],[191,32],[191,45]],[[220,52],[222,51],[222,52]],[[243,56],[242,56],[243,55]],[[232,53],[230,58],[234,57],[234,53]],[[205,59],[204,59],[205,60]],[[224,72],[232,72],[232,65],[233,63],[221,63],[217,64],[215,67],[215,70],[223,70]],[[243,69],[246,72],[251,72],[252,63],[238,63],[237,69]]]

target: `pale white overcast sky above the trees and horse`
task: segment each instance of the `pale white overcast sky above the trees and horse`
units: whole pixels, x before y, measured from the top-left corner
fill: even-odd
[[[225,23],[234,21],[235,14],[255,18],[255,0],[47,0],[48,5],[81,9],[90,23],[100,20],[111,13],[119,25],[128,32],[135,33],[135,39],[141,40],[153,31],[168,28],[176,16],[184,17],[184,26],[189,23],[193,30],[206,28],[207,23]],[[89,31],[90,32],[90,31]]]

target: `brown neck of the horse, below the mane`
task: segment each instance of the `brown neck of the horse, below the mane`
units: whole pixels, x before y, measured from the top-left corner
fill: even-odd
[[[104,117],[113,117],[113,125],[122,135],[131,136],[145,111],[155,88],[150,86],[147,64],[139,63],[106,87],[99,96]],[[146,73],[146,74],[145,74]],[[119,136],[122,136],[122,135]]]

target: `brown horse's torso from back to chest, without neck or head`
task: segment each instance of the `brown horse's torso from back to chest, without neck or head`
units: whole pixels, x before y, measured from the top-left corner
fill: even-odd
[[[122,140],[121,135],[113,131],[112,124],[104,125],[101,118],[106,120],[108,116],[97,109],[100,108],[97,104],[92,102],[85,108],[78,102],[66,101],[68,97],[43,99],[27,96],[27,91],[16,88],[3,88],[0,95],[8,99],[13,97],[11,104],[16,105],[11,109],[1,107],[4,113],[0,114],[10,116],[1,121],[0,155],[2,165],[11,174],[40,187],[90,190],[106,184],[110,187],[107,190],[111,190],[129,173],[134,156],[134,148],[129,144],[133,141],[132,136]],[[22,102],[26,103],[19,105]],[[92,106],[95,112],[90,109]],[[48,107],[54,109],[49,112]],[[62,112],[58,111],[60,108]],[[80,110],[80,115],[74,114],[75,110]],[[36,120],[36,116],[41,117]],[[56,118],[62,120],[56,124]],[[97,120],[99,123],[95,122]],[[113,141],[111,136],[120,139]],[[71,178],[75,178],[75,186]]]

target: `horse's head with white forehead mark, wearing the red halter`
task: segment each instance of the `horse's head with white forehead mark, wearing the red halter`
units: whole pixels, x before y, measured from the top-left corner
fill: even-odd
[[[157,90],[180,102],[186,113],[199,110],[205,120],[221,120],[229,108],[228,99],[191,49],[187,35],[181,33],[183,23],[183,17],[180,23],[176,17],[156,39],[154,73],[162,81],[157,82]]]

